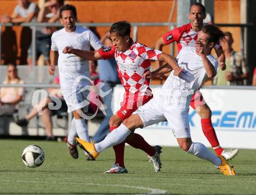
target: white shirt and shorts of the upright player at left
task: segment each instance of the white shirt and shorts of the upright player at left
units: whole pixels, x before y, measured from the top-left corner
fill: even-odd
[[[91,81],[88,79],[88,61],[73,54],[64,54],[62,50],[65,46],[90,50],[90,45],[95,50],[102,47],[99,39],[88,28],[77,26],[74,32],[66,32],[65,28],[62,28],[52,34],[51,49],[59,53],[59,80],[68,112],[81,108],[84,108],[84,111],[88,109],[88,89],[90,90]],[[82,90],[84,87],[88,89]]]

